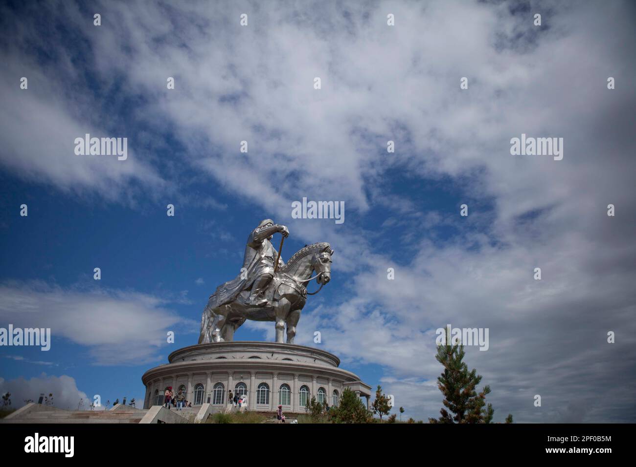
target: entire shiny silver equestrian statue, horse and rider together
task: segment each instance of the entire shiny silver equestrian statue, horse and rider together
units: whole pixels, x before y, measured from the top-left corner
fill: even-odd
[[[232,341],[245,320],[275,321],[277,342],[283,342],[287,326],[287,342],[293,343],[307,295],[317,293],[309,294],[306,285],[315,279],[321,290],[331,280],[333,250],[324,242],[305,245],[285,264],[270,241],[279,232],[282,248],[289,230],[272,219],[261,221],[249,234],[240,274],[210,295],[201,318],[199,344]]]

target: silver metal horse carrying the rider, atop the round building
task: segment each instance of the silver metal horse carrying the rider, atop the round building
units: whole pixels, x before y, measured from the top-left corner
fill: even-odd
[[[272,227],[273,222],[270,220],[261,222],[261,224],[263,223],[265,224],[261,228],[269,226],[275,229],[277,227]],[[279,231],[282,232],[282,230]],[[258,228],[254,232],[258,232]],[[245,320],[254,320],[274,321],[276,342],[284,342],[283,336],[287,327],[287,344],[293,344],[296,336],[296,325],[300,320],[300,311],[307,301],[307,283],[315,279],[320,284],[320,288],[316,292],[309,294],[315,295],[323,285],[331,280],[331,256],[333,253],[334,250],[329,247],[329,243],[324,242],[313,243],[301,248],[287,261],[286,265],[273,271],[272,279],[264,287],[264,290],[259,292],[263,296],[264,303],[258,305],[254,304],[254,294],[249,288],[244,288],[230,299],[226,299],[225,291],[232,287],[233,281],[219,286],[205,306],[198,343],[233,341],[235,330]],[[314,273],[315,276],[312,277]],[[237,277],[234,281],[239,280],[240,277]],[[255,285],[258,285],[258,281],[252,282],[251,287],[255,287]]]

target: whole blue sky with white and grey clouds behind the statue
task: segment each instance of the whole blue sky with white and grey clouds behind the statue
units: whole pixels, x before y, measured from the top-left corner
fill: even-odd
[[[53,342],[0,348],[0,392],[142,400],[272,217],[284,259],[336,250],[296,343],[404,416],[438,416],[450,323],[489,330],[466,362],[495,421],[635,422],[635,22],[620,1],[9,2],[0,327]],[[85,133],[127,137],[128,158],[76,155]],[[522,133],[563,138],[563,159],[511,155]],[[303,197],[343,201],[345,222],[293,219]]]

